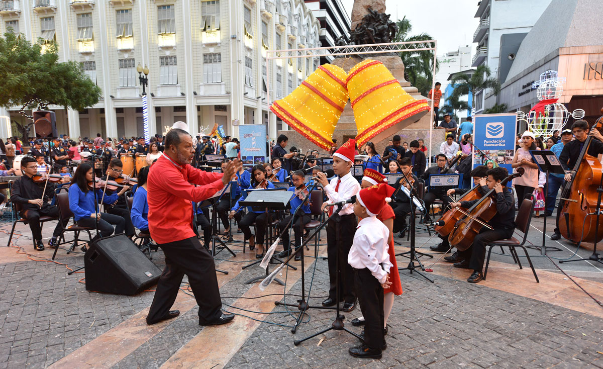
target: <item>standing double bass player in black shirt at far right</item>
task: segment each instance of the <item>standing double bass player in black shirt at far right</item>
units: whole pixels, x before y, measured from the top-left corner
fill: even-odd
[[[576,137],[575,140],[567,142],[564,145],[563,150],[559,156],[561,166],[565,169],[565,183],[572,180],[573,167],[576,165],[576,161],[580,157],[582,147],[588,136],[592,136],[595,140],[590,140],[589,151],[587,154],[590,156],[598,157],[599,154],[603,154],[603,136],[598,130],[590,130],[589,123],[584,119],[579,119],[572,124],[572,134]],[[561,203],[559,205],[561,209]],[[561,238],[559,232],[559,216],[561,211],[557,211],[557,228],[555,228],[554,234],[551,236],[553,241]]]

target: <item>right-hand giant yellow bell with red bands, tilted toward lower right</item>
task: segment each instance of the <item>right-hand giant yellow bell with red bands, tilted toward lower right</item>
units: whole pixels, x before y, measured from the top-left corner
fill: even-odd
[[[369,140],[391,139],[402,128],[429,111],[427,100],[417,100],[381,62],[364,60],[348,74],[347,90],[356,121],[358,147]]]

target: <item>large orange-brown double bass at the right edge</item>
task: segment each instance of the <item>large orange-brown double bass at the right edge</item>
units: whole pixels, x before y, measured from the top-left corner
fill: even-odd
[[[603,116],[590,130],[603,131]],[[589,134],[572,168],[572,180],[566,182],[559,200],[557,227],[561,236],[572,242],[593,243],[603,239],[603,227],[596,227],[597,188],[602,180],[601,162],[588,154],[591,140]]]

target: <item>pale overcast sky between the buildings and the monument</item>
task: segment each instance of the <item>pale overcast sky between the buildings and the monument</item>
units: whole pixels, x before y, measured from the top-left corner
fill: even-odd
[[[352,14],[354,0],[341,0],[348,14]],[[428,33],[438,42],[437,55],[456,51],[459,46],[473,45],[473,33],[478,27],[474,18],[478,0],[386,0],[386,13],[390,19],[411,21],[411,34]]]

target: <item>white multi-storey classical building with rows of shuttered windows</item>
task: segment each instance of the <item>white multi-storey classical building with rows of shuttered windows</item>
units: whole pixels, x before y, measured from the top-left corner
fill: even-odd
[[[318,67],[318,57],[271,60],[268,49],[320,46],[320,24],[303,0],[0,0],[0,31],[58,44],[60,61],[80,62],[103,99],[81,112],[51,106],[71,137],[142,136],[147,65],[151,135],[174,121],[192,134],[214,123],[268,124],[270,99],[286,96]],[[1,88],[1,87],[0,87]],[[0,116],[24,121],[14,109]],[[270,135],[276,136],[271,115]],[[209,131],[207,132],[209,133]]]

